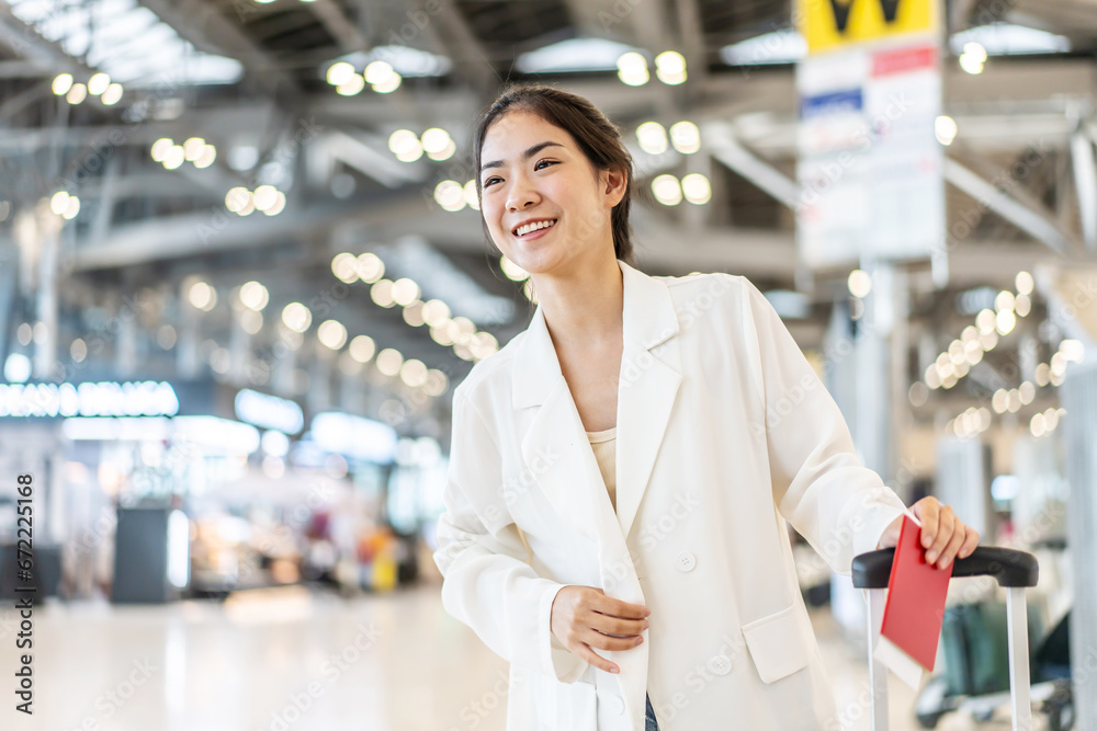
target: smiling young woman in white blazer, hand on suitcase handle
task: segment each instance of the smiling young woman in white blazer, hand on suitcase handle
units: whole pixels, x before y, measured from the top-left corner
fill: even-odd
[[[539,304],[454,391],[434,560],[511,663],[508,730],[840,728],[784,522],[848,574],[904,504],[747,279],[634,269],[632,160],[589,101],[506,90],[475,161]],[[941,568],[979,542],[913,512]]]

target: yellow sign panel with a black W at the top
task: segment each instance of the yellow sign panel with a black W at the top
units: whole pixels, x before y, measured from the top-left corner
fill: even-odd
[[[818,54],[893,36],[936,33],[940,0],[796,0],[796,24]]]

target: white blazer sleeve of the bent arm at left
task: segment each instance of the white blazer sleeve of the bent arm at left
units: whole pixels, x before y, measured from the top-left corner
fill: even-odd
[[[572,683],[587,661],[552,633],[552,604],[566,584],[527,562],[522,537],[502,498],[499,448],[468,397],[453,398],[450,465],[433,555],[442,606],[499,656]]]

